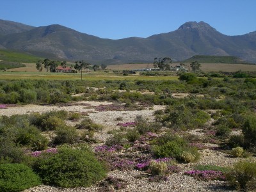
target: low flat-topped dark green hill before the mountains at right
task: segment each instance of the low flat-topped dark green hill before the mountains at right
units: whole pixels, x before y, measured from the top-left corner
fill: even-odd
[[[191,63],[193,61],[198,61],[199,63],[253,64],[253,63],[248,63],[246,61],[243,61],[235,56],[208,56],[208,55],[196,55],[182,62]]]

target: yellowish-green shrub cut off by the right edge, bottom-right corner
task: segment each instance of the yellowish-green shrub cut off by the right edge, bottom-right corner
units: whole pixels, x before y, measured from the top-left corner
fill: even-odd
[[[227,173],[227,180],[237,189],[255,190],[256,186],[251,183],[256,179],[256,163],[240,161],[234,164],[234,168]]]

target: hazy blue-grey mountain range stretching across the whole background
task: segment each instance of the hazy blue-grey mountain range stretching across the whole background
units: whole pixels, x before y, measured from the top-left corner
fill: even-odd
[[[58,24],[33,27],[0,20],[0,49],[28,52],[58,60],[105,64],[152,62],[156,57],[182,61],[195,55],[237,56],[256,63],[256,31],[223,35],[205,22],[186,22],[179,29],[147,38],[111,40]]]

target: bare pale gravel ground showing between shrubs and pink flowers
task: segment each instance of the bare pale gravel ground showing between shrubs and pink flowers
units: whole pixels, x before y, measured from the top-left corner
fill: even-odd
[[[136,115],[142,115],[145,118],[153,118],[152,113],[156,109],[164,109],[164,106],[154,106],[153,108],[147,108],[141,111],[95,111],[94,107],[101,104],[112,104],[111,102],[80,102],[81,105],[76,106],[37,106],[37,105],[26,105],[26,106],[15,106],[8,109],[0,109],[0,115],[11,116],[15,114],[28,114],[28,113],[44,113],[51,110],[66,110],[73,112],[90,112],[89,117],[93,122],[97,124],[104,125],[104,131],[100,132],[97,136],[100,140],[106,140],[108,138],[106,132],[111,129],[118,129],[116,124],[118,122],[133,122]],[[90,108],[88,108],[88,106]],[[122,121],[116,121],[116,118],[122,116]],[[69,124],[75,125],[78,122],[68,122]],[[200,130],[195,130],[191,132],[192,134],[198,134],[202,136]],[[217,145],[214,145],[217,146]],[[213,146],[213,147],[214,147]],[[204,149],[200,150],[202,154],[198,164],[214,164],[219,166],[231,166],[233,163],[240,161],[242,158],[233,158],[228,156],[223,152],[216,150]],[[256,158],[253,157],[256,161]],[[165,182],[148,182],[146,177],[143,177],[145,173],[138,170],[131,171],[118,171],[109,172],[109,176],[114,176],[120,179],[125,179],[128,182],[127,188],[120,189],[118,191],[232,191],[227,187],[227,183],[219,180],[214,181],[201,181],[196,180],[193,177],[184,175],[184,171],[192,170],[193,164],[179,164],[182,168],[182,172],[173,173],[168,177],[168,181]],[[59,192],[59,191],[101,191],[102,189],[97,186],[97,184],[91,186],[90,188],[55,188],[52,186],[37,186],[35,188],[26,189],[24,192]],[[113,189],[113,191],[115,191]]]

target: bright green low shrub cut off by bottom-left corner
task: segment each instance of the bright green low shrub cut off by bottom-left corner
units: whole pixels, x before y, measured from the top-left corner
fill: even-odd
[[[0,164],[0,191],[22,191],[40,184],[40,178],[28,166]]]

